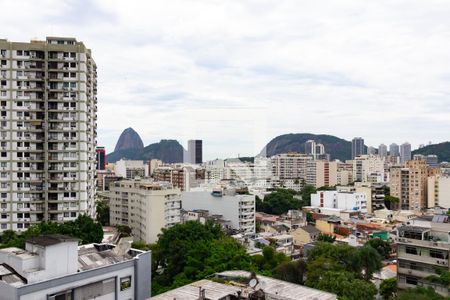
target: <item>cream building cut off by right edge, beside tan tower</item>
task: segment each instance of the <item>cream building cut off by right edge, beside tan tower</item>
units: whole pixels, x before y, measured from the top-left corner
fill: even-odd
[[[428,177],[428,207],[450,209],[450,176],[433,175]]]

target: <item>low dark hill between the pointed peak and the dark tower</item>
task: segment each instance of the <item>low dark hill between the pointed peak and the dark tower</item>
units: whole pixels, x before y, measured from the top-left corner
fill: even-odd
[[[160,159],[165,163],[183,162],[184,149],[176,140],[161,140],[142,149],[122,149],[106,156],[114,163],[122,158],[136,160]]]

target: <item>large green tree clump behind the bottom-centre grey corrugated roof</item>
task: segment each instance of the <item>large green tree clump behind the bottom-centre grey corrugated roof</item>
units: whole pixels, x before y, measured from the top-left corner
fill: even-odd
[[[245,248],[212,222],[202,225],[190,221],[163,229],[152,258],[152,295],[215,272],[253,270]],[[158,266],[161,269],[156,272]]]

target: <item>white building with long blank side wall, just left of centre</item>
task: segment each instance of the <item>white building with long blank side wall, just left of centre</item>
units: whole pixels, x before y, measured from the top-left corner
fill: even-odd
[[[242,233],[255,233],[255,196],[240,195],[226,187],[213,191],[190,191],[182,193],[185,210],[208,210],[229,220],[233,229]]]

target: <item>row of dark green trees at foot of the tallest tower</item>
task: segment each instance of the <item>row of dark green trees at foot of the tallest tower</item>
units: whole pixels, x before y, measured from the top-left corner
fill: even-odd
[[[64,234],[80,239],[81,244],[100,243],[103,239],[102,225],[87,215],[80,215],[74,221],[65,223],[42,222],[31,226],[21,234],[12,230],[0,236],[1,248],[25,248],[25,240],[43,234]]]

